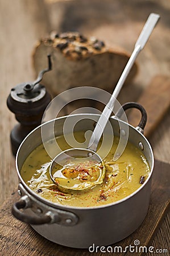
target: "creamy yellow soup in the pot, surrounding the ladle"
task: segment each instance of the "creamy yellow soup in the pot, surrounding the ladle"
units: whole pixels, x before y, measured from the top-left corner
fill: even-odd
[[[84,142],[84,132],[74,133],[78,142]],[[109,139],[109,137],[108,137]],[[64,137],[56,138],[62,150],[70,148]],[[49,141],[51,147],[55,141]],[[146,181],[150,174],[150,166],[143,153],[127,143],[121,157],[113,162],[113,156],[118,146],[119,138],[114,138],[113,146],[103,162],[106,167],[105,179],[102,184],[97,184],[86,191],[72,191],[64,193],[59,191],[49,177],[49,166],[52,159],[49,157],[43,144],[35,148],[22,166],[20,174],[28,187],[44,199],[53,203],[70,205],[73,207],[93,207],[110,204],[121,200],[136,191]],[[100,147],[101,142],[98,147]],[[56,152],[56,155],[58,152]]]

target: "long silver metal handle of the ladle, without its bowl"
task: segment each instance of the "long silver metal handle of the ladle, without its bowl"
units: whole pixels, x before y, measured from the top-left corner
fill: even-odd
[[[89,146],[88,146],[89,150],[93,150],[94,152],[96,152],[99,139],[101,138],[103,130],[105,129],[106,123],[111,113],[113,112],[115,100],[122,89],[122,86],[126,80],[128,73],[131,70],[132,65],[135,62],[136,57],[138,56],[139,52],[143,49],[143,47],[147,43],[147,40],[150,37],[152,30],[154,30],[154,27],[159,17],[160,16],[158,14],[154,14],[154,13],[150,14],[150,16],[148,17],[143,27],[143,30],[140,33],[139,38],[135,43],[134,51],[132,52],[132,55],[126,64],[126,67],[123,70],[121,77],[119,78],[117,86],[115,87],[114,92],[110,97],[108,104],[103,109],[103,112],[98,119],[96,127],[94,128],[92,137],[90,138],[90,141],[89,141]]]

